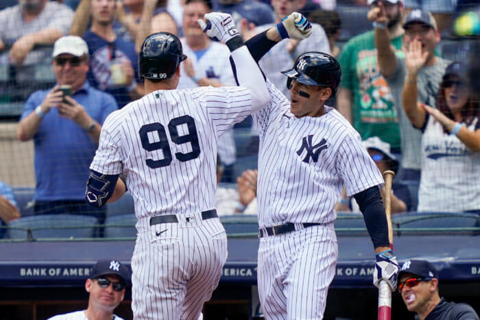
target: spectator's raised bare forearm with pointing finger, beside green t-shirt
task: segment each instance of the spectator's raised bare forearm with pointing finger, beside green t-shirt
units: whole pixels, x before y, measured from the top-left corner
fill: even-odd
[[[368,12],[368,20],[372,21],[375,30],[375,47],[378,51],[379,69],[383,77],[387,78],[394,74],[396,69],[395,48],[390,43],[390,34],[387,28],[387,14],[383,3],[372,7]]]

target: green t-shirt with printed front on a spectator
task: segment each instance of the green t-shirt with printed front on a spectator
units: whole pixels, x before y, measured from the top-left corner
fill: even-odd
[[[339,56],[341,84],[352,91],[353,126],[362,140],[378,136],[400,150],[400,130],[395,100],[376,59],[374,31],[350,39]],[[403,56],[403,36],[392,39],[396,55]]]

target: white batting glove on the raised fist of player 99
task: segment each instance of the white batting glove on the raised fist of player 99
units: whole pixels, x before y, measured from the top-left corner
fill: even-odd
[[[239,36],[237,27],[230,14],[211,12],[204,16],[205,21],[198,19],[198,24],[210,38],[226,43],[231,38]]]

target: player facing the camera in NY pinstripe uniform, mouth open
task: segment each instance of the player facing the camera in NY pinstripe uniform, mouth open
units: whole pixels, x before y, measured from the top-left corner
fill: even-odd
[[[258,61],[272,40],[263,33],[246,45]],[[322,319],[338,257],[334,206],[344,186],[372,238],[374,284],[383,279],[396,288],[398,264],[379,193],[382,175],[358,132],[324,105],[337,92],[339,63],[307,52],[283,74],[290,101],[267,82],[271,101],[253,115],[260,136],[259,297],[266,319]]]

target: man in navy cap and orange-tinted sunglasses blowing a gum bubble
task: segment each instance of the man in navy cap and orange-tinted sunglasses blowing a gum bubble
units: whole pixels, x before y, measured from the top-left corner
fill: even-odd
[[[407,260],[398,273],[398,291],[405,306],[420,320],[478,320],[468,304],[455,304],[440,297],[438,271],[426,260]]]

